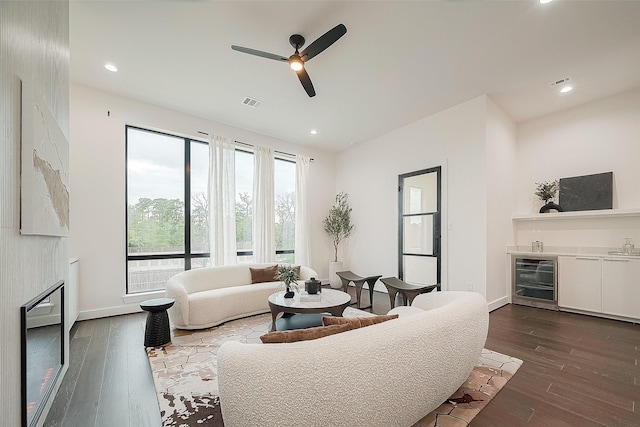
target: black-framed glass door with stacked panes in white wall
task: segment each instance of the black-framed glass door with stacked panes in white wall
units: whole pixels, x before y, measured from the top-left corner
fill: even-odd
[[[407,283],[440,284],[440,175],[437,166],[398,176],[398,275]]]

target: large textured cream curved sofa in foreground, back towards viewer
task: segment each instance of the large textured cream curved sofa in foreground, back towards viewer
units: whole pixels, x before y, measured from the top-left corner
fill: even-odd
[[[218,386],[225,426],[409,427],[467,379],[484,347],[485,299],[432,292],[399,318],[312,341],[225,342]]]

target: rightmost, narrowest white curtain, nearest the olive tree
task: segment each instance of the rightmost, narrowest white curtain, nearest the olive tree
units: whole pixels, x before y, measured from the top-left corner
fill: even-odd
[[[309,208],[307,207],[307,181],[311,159],[296,156],[296,264],[310,265]]]

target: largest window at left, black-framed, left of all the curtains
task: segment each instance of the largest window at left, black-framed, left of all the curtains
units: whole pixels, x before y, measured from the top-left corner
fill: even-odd
[[[127,138],[127,293],[208,263],[209,146],[135,127]]]

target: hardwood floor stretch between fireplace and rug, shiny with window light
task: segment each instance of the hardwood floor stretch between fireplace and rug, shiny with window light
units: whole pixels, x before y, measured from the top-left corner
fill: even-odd
[[[45,426],[162,425],[142,344],[145,315],[86,320],[73,326],[69,370]]]

